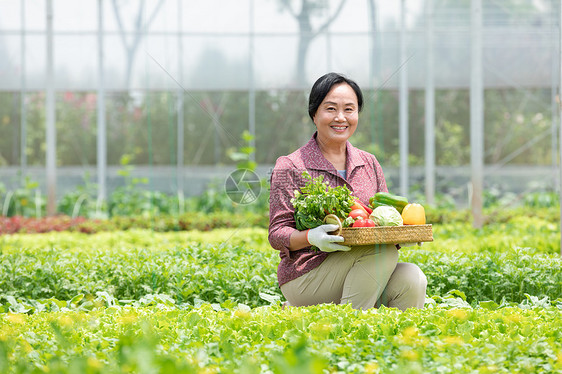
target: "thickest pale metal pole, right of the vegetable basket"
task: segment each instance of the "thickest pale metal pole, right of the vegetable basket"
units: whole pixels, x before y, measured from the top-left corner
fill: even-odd
[[[472,225],[482,228],[484,169],[484,100],[482,83],[482,0],[472,0],[470,27],[470,165]]]

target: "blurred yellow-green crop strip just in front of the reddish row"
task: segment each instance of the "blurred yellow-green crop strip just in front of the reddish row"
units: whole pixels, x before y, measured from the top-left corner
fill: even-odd
[[[238,217],[240,218],[240,217]],[[243,243],[260,250],[270,251],[267,231],[259,228],[247,218],[229,221],[230,229],[217,229],[226,225],[227,217],[210,217],[215,227],[211,232],[209,226],[202,224],[199,230],[156,230],[151,229],[150,220],[145,219],[142,230],[132,226],[120,230],[101,230],[95,235],[80,233],[53,233],[42,235],[0,235],[0,250],[4,249],[43,249],[57,248],[106,248],[117,246],[151,247],[163,241],[163,244],[184,246],[187,243]],[[139,222],[141,218],[136,219]],[[207,221],[208,223],[209,221]],[[219,223],[220,222],[220,223]],[[126,232],[125,232],[126,231]],[[161,232],[164,232],[161,234]],[[507,222],[488,224],[482,229],[475,229],[470,222],[452,222],[433,225],[434,242],[424,243],[423,248],[444,253],[501,252],[515,247],[528,247],[537,253],[560,253],[560,226],[542,217],[515,216]],[[153,241],[156,240],[156,241]],[[170,242],[171,241],[171,242]]]

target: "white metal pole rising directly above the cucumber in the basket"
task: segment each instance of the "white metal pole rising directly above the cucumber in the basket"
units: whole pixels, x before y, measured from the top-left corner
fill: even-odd
[[[406,61],[406,0],[400,8],[400,62]],[[408,67],[400,69],[399,138],[400,138],[400,194],[408,196]]]

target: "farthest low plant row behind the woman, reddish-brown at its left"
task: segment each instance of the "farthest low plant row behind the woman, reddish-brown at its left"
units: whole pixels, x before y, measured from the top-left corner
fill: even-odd
[[[231,204],[232,205],[232,204]],[[4,217],[0,216],[0,235],[14,233],[45,233],[50,231],[73,231],[98,233],[133,229],[150,229],[158,232],[213,230],[217,228],[262,227],[269,225],[267,207],[255,210],[230,207],[212,213],[192,211],[184,214],[153,214],[138,216],[112,216],[107,219],[72,218],[60,215],[53,217]],[[541,230],[545,225],[560,225],[560,209],[516,207],[510,209],[487,208],[484,210],[484,230],[495,230],[503,226],[530,227],[538,224]],[[426,208],[428,223],[435,225],[457,224],[462,227],[472,222],[472,215],[466,209]],[[468,227],[468,226],[467,226]],[[521,230],[521,228],[518,228]]]

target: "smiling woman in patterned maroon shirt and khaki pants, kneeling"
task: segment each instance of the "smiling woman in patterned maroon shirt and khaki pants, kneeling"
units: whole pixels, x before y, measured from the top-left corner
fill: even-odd
[[[405,310],[422,308],[427,280],[417,265],[398,263],[398,246],[337,244],[335,225],[311,230],[295,228],[291,198],[304,186],[303,171],[332,187],[346,185],[367,203],[387,192],[376,158],[351,145],[363,106],[361,89],[351,79],[329,73],[313,85],[308,113],[317,131],[310,141],[280,157],[271,176],[269,242],[280,251],[277,278],[290,305],[351,303],[356,309],[385,305]],[[320,250],[312,250],[311,245]]]

